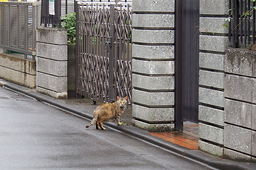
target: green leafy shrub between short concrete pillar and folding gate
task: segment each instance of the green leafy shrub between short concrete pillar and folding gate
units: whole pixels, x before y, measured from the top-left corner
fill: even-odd
[[[67,29],[67,43],[76,43],[76,13],[67,14],[62,18],[62,28]]]

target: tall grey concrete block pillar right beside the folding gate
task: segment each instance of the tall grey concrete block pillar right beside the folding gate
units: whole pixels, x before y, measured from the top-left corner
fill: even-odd
[[[132,32],[133,125],[174,130],[175,0],[135,0]]]

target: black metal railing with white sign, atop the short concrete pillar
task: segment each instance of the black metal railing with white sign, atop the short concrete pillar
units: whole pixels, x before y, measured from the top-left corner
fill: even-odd
[[[49,0],[41,1],[41,24],[61,28],[61,0],[54,0],[55,14],[49,14]]]

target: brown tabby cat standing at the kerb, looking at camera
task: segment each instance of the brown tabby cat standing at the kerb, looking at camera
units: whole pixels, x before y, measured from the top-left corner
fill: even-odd
[[[117,96],[116,99],[117,101],[114,103],[99,105],[93,112],[93,120],[86,127],[96,124],[96,129],[99,129],[100,126],[102,130],[105,130],[103,123],[110,119],[115,119],[117,125],[122,125],[119,121],[119,117],[124,113],[128,96],[125,96],[125,98]]]

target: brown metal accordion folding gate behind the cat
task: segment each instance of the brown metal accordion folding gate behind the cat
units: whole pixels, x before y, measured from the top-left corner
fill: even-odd
[[[131,104],[131,4],[80,2],[76,17],[77,96]]]

